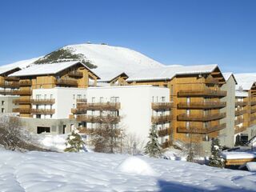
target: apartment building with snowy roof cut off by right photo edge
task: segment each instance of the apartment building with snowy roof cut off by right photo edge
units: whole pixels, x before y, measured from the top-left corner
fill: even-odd
[[[234,74],[238,85],[235,91],[235,140],[241,135],[256,136],[256,74]]]

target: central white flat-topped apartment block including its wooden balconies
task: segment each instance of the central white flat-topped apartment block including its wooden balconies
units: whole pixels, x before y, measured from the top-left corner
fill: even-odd
[[[89,87],[87,98],[72,110],[80,126],[97,128],[110,123],[146,142],[152,123],[165,132],[170,127],[169,89],[156,86]],[[159,139],[164,144],[169,137]]]

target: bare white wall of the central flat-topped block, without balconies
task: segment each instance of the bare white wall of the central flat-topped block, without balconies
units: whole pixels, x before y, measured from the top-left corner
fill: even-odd
[[[89,87],[87,89],[87,101],[110,102],[110,98],[116,97],[121,103],[120,116],[122,121],[120,126],[126,129],[127,134],[136,134],[142,142],[147,141],[151,127],[151,102],[169,102],[169,89],[156,86],[109,86],[109,87]],[[169,112],[166,112],[169,113]],[[88,111],[91,114],[91,111]],[[95,115],[95,114],[94,114]],[[156,112],[154,111],[154,115]],[[91,123],[86,126],[90,127]],[[166,125],[168,127],[169,125]]]

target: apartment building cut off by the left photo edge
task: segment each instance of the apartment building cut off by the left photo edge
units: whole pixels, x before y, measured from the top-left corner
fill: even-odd
[[[10,78],[12,74],[18,70],[19,67],[0,67],[0,113],[12,113],[17,106],[14,105],[13,100],[18,97],[18,78]]]

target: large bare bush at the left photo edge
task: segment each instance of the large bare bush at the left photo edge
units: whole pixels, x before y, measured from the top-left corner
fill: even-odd
[[[0,116],[0,143],[6,150],[23,148],[28,140],[30,138],[26,130],[22,129],[17,117],[10,115]]]

